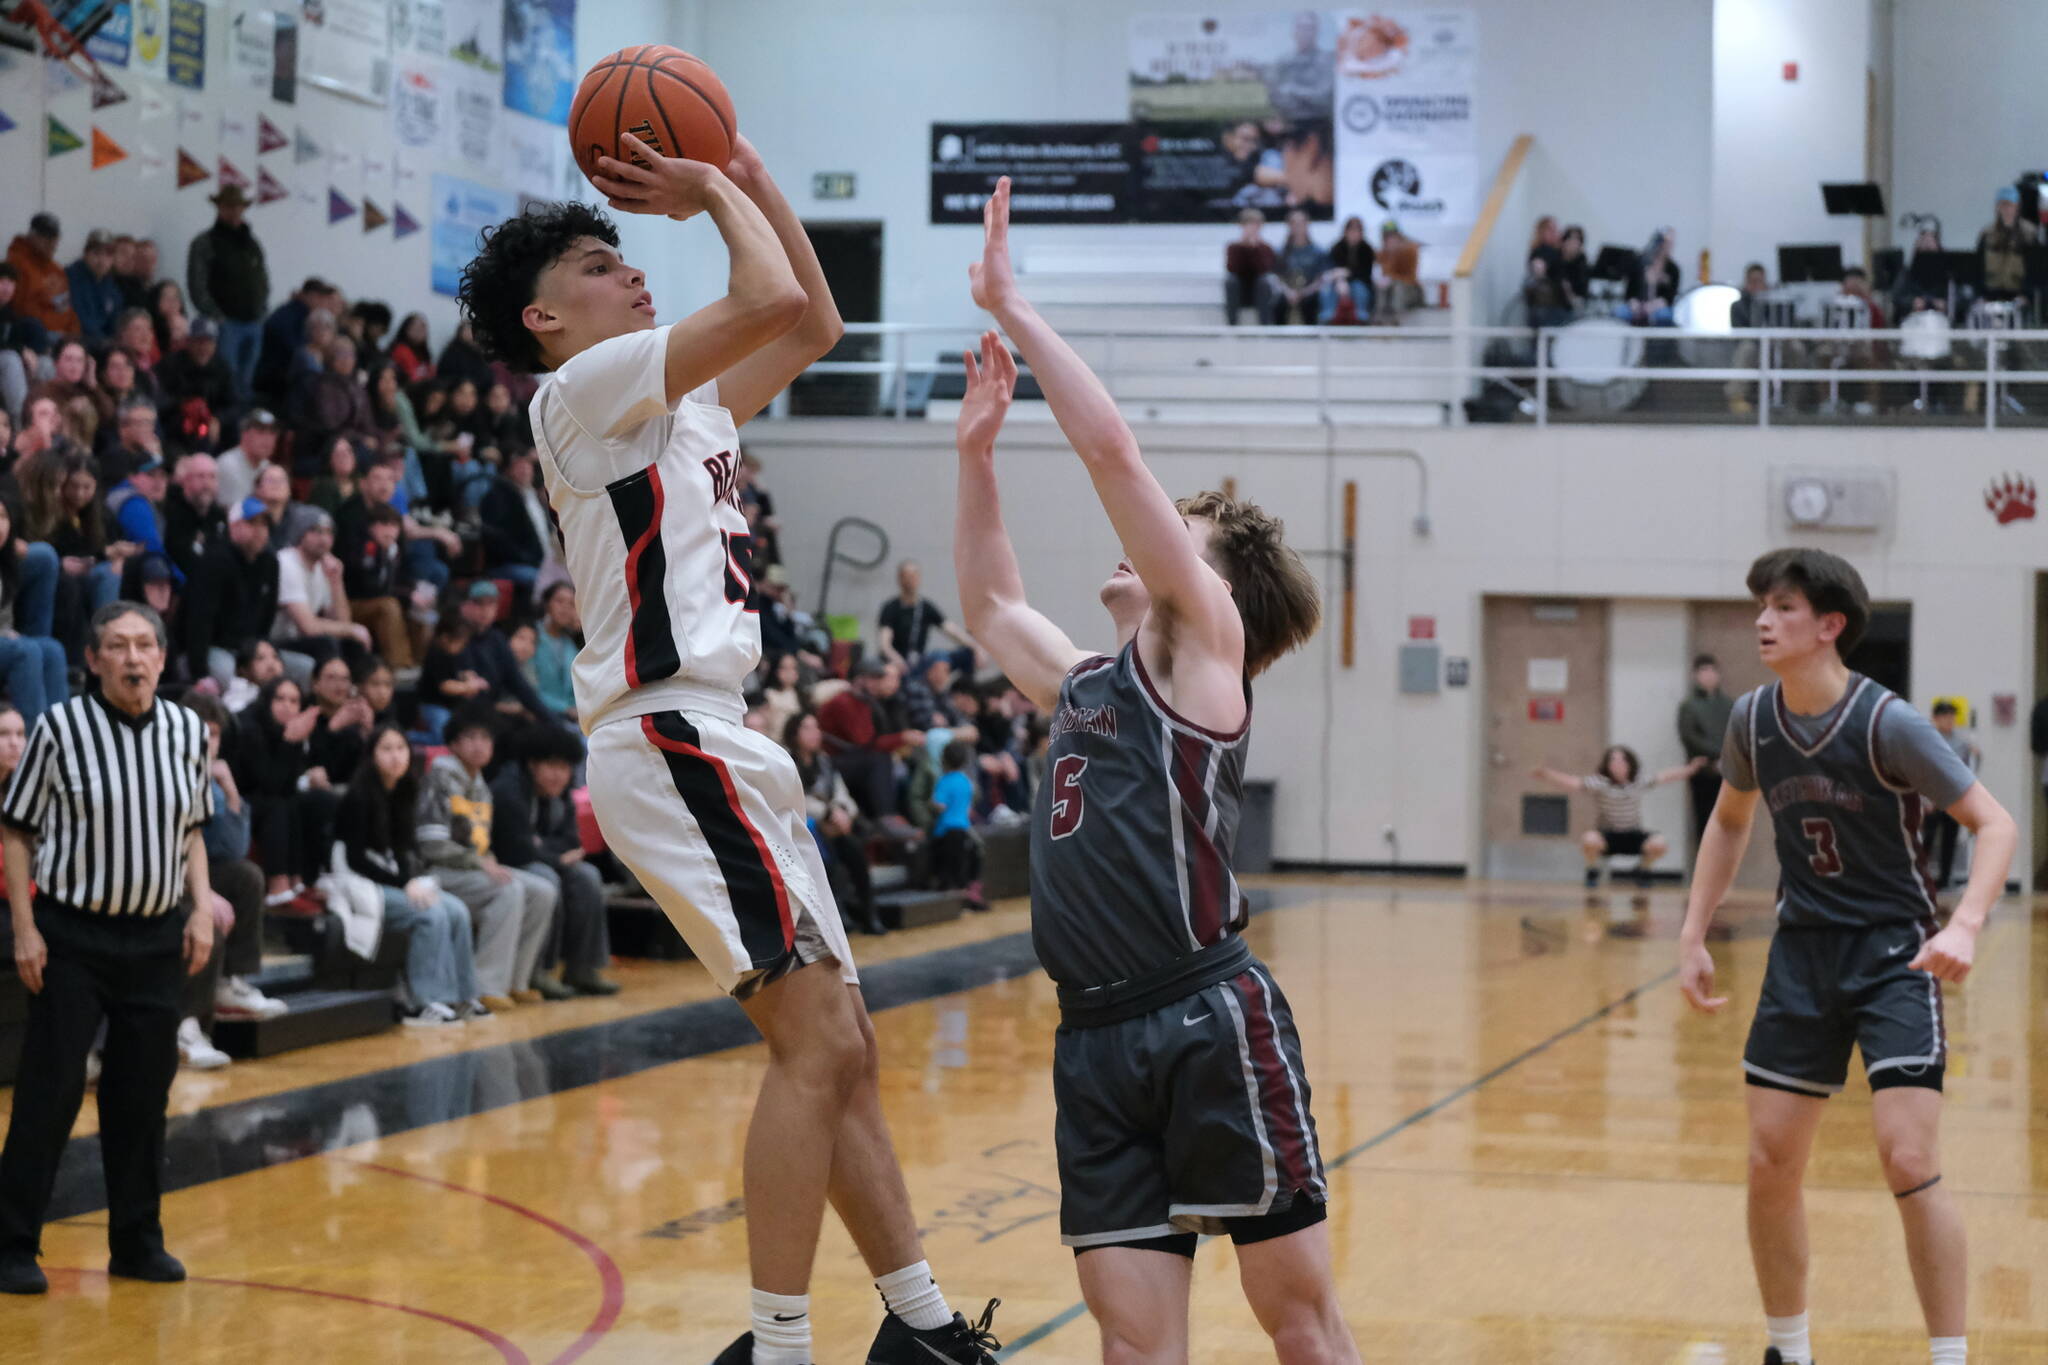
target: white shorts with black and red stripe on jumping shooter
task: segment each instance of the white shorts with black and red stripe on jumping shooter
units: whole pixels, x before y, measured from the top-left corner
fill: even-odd
[[[827,958],[858,980],[782,745],[698,712],[625,716],[590,735],[590,806],[727,995]]]

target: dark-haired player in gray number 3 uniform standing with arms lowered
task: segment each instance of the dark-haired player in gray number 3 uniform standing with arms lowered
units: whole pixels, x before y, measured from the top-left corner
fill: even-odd
[[[1749,845],[1757,804],[1778,843],[1778,935],[1743,1070],[1749,1095],[1749,1254],[1763,1293],[1765,1365],[1810,1365],[1802,1183],[1827,1097],[1862,1050],[1884,1179],[1933,1365],[1962,1365],[1968,1261],[1962,1209],[1942,1183],[1942,982],[1960,982],[2005,894],[2013,817],[1942,733],[1841,661],[1870,624],[1870,593],[1841,557],[1776,551],[1749,569],[1757,649],[1778,675],[1735,704],[1720,800],[1700,839],[1679,931],[1679,988],[1714,1013],[1706,929]],[[1919,829],[1948,810],[1976,835],[1970,886],[1944,927]]]

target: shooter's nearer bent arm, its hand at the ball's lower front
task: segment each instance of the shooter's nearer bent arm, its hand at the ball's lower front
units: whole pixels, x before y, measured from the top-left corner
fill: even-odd
[[[803,321],[811,299],[760,205],[725,172],[662,156],[633,133],[625,133],[621,145],[647,164],[598,160],[600,174],[590,182],[604,190],[612,209],[672,219],[709,213],[731,254],[725,297],[668,329],[668,401],[678,403],[692,389],[786,336]]]

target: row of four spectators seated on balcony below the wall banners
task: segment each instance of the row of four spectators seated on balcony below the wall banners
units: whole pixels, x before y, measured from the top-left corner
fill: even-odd
[[[1415,272],[1421,244],[1395,219],[1380,223],[1380,246],[1366,239],[1366,223],[1348,217],[1331,246],[1319,246],[1309,215],[1286,215],[1278,250],[1266,239],[1266,215],[1237,215],[1237,241],[1223,250],[1223,319],[1237,325],[1249,307],[1266,325],[1399,323],[1423,303]]]

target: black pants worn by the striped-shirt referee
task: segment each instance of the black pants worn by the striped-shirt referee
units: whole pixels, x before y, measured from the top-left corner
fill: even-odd
[[[164,1105],[178,1074],[184,915],[84,915],[39,900],[35,927],[49,962],[43,988],[29,997],[14,1115],[0,1148],[0,1254],[41,1252],[43,1216],[86,1097],[86,1052],[100,1019],[106,1246],[121,1259],[150,1254],[164,1246]]]

